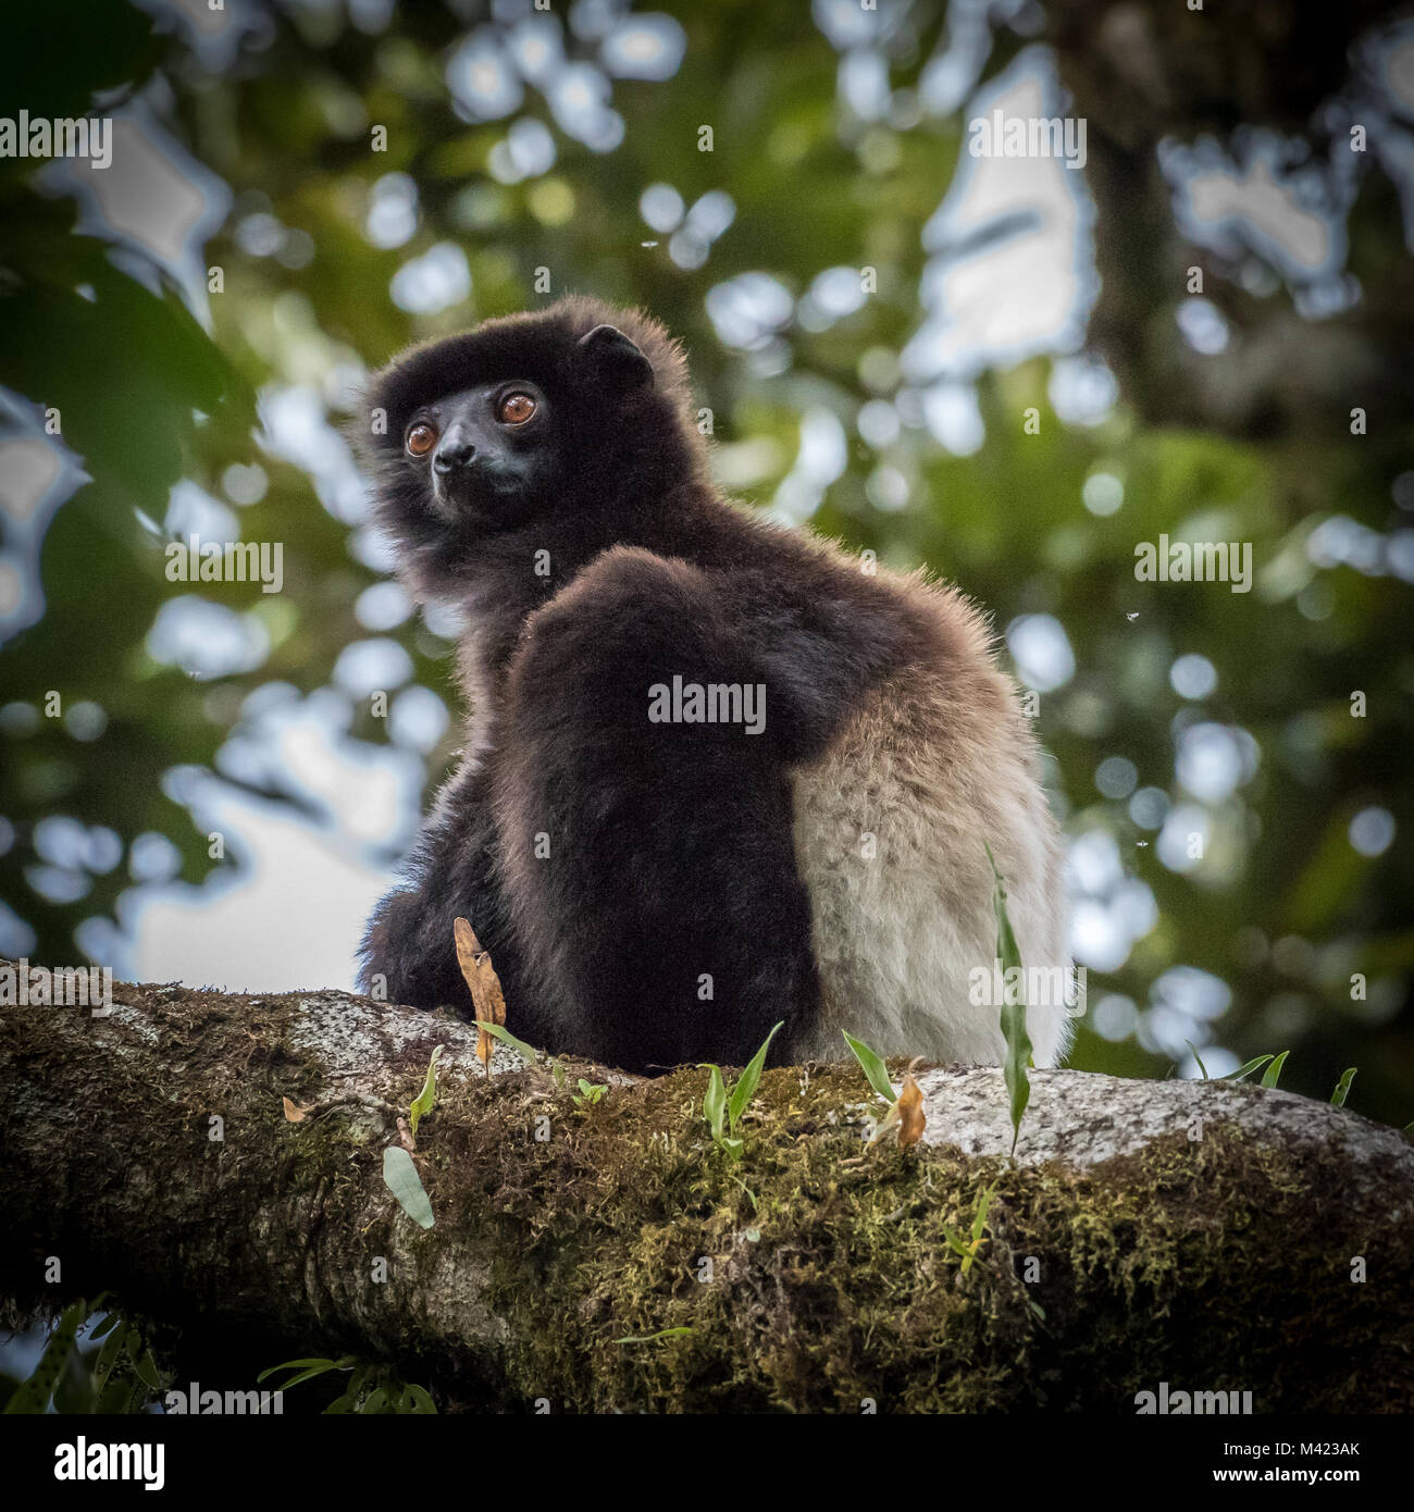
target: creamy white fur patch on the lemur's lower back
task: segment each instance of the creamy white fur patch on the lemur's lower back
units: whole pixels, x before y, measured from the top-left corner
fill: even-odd
[[[944,706],[927,679],[910,679],[880,691],[797,776],[795,857],[823,1005],[794,1058],[841,1058],[848,1030],[883,1055],[1001,1063],[1000,1004],[971,1001],[972,974],[991,974],[997,957],[985,842],[1007,881],[1024,965],[1053,978],[1063,968],[1069,981],[1056,824],[1009,691],[1001,706],[992,726],[986,709]],[[1065,1005],[1033,1004],[1027,1030],[1036,1064],[1057,1064],[1071,1031]]]

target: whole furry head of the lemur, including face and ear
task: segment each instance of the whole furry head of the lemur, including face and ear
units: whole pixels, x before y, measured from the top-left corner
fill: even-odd
[[[358,443],[419,596],[460,594],[482,562],[602,546],[625,511],[690,476],[679,398],[656,392],[653,364],[617,327],[584,331],[590,313],[487,321],[375,375]]]

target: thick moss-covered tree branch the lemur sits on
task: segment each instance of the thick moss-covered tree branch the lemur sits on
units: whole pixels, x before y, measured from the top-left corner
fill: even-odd
[[[1000,1070],[921,1072],[898,1149],[865,1145],[857,1066],[780,1067],[733,1161],[706,1072],[498,1046],[487,1077],[445,1013],[127,984],[106,1018],[0,1012],[0,1293],[113,1290],[203,1385],[349,1352],[443,1408],[1414,1408],[1414,1146],[1288,1093],[1037,1070],[1010,1160]],[[383,1151],[437,1045],[422,1229]]]

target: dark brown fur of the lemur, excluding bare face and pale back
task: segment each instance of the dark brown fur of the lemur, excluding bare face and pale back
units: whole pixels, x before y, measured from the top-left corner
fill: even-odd
[[[585,370],[578,342],[605,322],[649,358],[650,386]],[[499,378],[550,396],[564,484],[513,528],[448,525],[426,510],[402,426],[419,404]],[[470,712],[408,880],[369,924],[363,983],[469,1007],[452,950],[464,915],[510,1027],[550,1049],[634,1069],[743,1063],[783,1019],[774,1058],[788,1057],[820,1012],[791,776],[871,686],[945,662],[936,624],[717,494],[682,354],[643,316],[570,299],[490,321],[399,358],[369,404],[387,413],[363,452],[402,576],[467,615]],[[674,674],[764,683],[765,732],[649,723],[650,685]]]

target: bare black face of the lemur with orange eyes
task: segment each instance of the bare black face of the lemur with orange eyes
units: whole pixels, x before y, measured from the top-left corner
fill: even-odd
[[[431,508],[448,523],[517,523],[563,470],[564,426],[526,378],[479,384],[419,405],[402,432],[408,463],[425,472]]]

